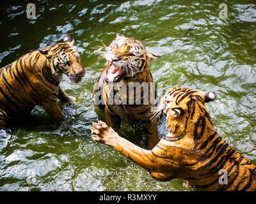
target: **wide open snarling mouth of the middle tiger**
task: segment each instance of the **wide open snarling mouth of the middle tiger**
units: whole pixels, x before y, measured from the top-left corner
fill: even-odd
[[[125,75],[124,69],[108,61],[108,71],[106,71],[105,82],[119,82]]]

